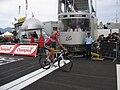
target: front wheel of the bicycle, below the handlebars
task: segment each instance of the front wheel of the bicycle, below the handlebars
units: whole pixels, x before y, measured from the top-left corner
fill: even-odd
[[[69,72],[73,67],[73,61],[68,56],[64,56],[63,59],[58,60],[58,66],[62,71]]]

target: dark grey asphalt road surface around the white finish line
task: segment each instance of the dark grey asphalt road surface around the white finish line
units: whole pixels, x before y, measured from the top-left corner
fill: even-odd
[[[5,55],[6,57],[13,57]],[[0,86],[40,69],[38,58],[24,58],[0,66]],[[74,58],[72,71],[60,69],[23,88],[23,90],[117,90],[116,64],[119,61],[89,61]]]

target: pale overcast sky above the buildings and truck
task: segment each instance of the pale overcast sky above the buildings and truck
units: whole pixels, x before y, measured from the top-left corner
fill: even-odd
[[[57,21],[58,0],[27,0],[27,18],[34,17],[40,21]],[[93,0],[94,2],[95,0]],[[116,4],[118,2],[118,4]],[[94,4],[94,3],[93,3]],[[21,6],[20,14],[19,6]],[[14,18],[25,16],[25,0],[0,0],[0,28],[13,27]],[[120,0],[96,0],[94,4],[97,18],[106,23],[115,21],[116,10],[120,19]]]

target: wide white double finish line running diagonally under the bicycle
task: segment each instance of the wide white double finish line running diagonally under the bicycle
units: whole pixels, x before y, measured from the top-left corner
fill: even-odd
[[[66,61],[66,63],[69,63],[69,61]],[[27,74],[21,78],[18,78],[10,83],[7,83],[0,87],[0,90],[20,90],[33,82],[39,80],[40,78],[46,76],[47,74],[53,72],[54,70],[58,69],[58,62],[55,63],[57,67],[51,67],[50,69],[39,69],[36,70],[30,74]],[[63,66],[63,64],[62,64]]]

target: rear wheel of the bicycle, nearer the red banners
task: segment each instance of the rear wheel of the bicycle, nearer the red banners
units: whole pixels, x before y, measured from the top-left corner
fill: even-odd
[[[46,60],[45,57],[39,58],[39,64],[40,64],[40,67],[43,69],[49,69],[51,66],[50,62],[48,60]]]

